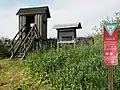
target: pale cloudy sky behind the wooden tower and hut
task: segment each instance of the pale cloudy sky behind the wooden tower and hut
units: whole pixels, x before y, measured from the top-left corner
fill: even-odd
[[[0,37],[13,38],[18,32],[16,12],[19,8],[33,6],[49,6],[48,38],[57,37],[56,30],[52,28],[54,25],[76,22],[82,24],[77,37],[91,35],[95,25],[99,27],[107,16],[120,12],[120,0],[1,0]]]

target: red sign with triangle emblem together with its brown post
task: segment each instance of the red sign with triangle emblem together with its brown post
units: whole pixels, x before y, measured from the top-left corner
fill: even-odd
[[[114,66],[118,64],[118,27],[115,23],[104,25],[104,65],[108,67],[108,90],[114,90]]]

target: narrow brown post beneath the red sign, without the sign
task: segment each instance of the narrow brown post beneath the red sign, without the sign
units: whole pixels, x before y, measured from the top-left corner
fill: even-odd
[[[108,67],[108,90],[114,90],[114,66]]]

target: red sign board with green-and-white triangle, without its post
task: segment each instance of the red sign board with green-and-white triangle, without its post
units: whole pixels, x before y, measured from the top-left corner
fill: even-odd
[[[117,24],[104,25],[104,65],[118,64],[118,27]]]

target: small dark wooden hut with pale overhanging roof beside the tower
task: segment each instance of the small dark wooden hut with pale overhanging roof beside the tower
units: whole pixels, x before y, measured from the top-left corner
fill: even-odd
[[[81,23],[61,24],[53,27],[57,30],[57,43],[74,43],[76,39],[76,29],[81,29]]]

